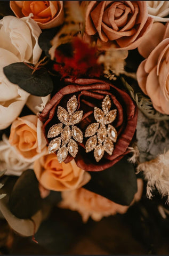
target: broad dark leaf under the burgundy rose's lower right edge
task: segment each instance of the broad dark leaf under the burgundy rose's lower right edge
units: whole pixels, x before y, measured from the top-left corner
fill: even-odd
[[[84,188],[111,201],[130,205],[137,191],[133,164],[124,156],[118,163],[101,172],[90,172],[91,180]]]

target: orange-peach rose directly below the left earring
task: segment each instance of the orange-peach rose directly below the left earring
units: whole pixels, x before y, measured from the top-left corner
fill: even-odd
[[[46,154],[37,159],[34,172],[44,188],[54,191],[76,189],[91,179],[90,174],[79,168],[74,160],[60,164],[55,154]]]

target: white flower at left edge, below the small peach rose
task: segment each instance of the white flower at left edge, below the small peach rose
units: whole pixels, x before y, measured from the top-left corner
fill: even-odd
[[[33,169],[32,164],[20,158],[15,148],[10,145],[5,134],[2,135],[2,141],[0,141],[0,162],[0,171],[6,170],[5,175],[20,176],[23,171]]]

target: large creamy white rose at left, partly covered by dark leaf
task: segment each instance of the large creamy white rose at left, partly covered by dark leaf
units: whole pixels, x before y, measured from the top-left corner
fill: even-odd
[[[9,82],[3,67],[22,61],[36,64],[42,53],[38,45],[40,34],[41,29],[30,17],[6,16],[0,20],[0,129],[8,127],[20,115],[30,95]]]

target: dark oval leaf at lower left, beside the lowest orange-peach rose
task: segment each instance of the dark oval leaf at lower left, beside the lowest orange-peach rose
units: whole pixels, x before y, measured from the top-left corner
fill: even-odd
[[[41,209],[42,198],[33,170],[26,170],[15,183],[10,195],[10,210],[20,219],[28,219]]]

